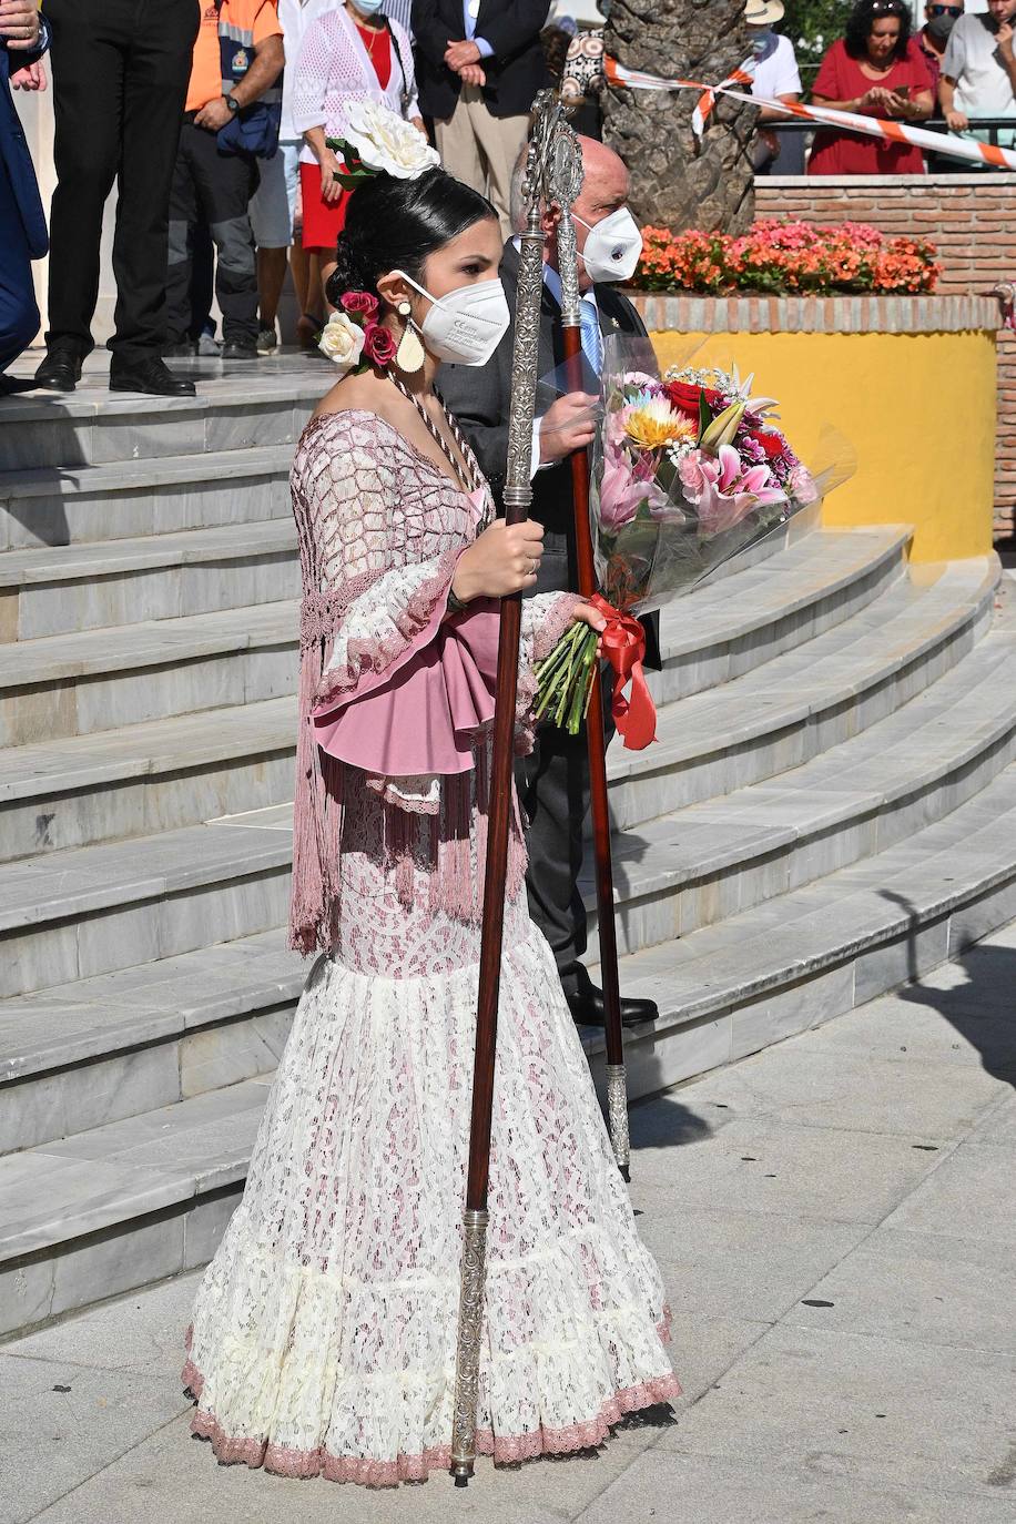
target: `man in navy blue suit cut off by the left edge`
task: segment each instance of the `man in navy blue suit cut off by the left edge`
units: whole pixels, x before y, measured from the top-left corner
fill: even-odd
[[[38,334],[32,261],[49,248],[35,169],[11,85],[38,90],[38,61],[49,47],[35,0],[0,0],[0,372]],[[20,390],[0,375],[0,395]]]

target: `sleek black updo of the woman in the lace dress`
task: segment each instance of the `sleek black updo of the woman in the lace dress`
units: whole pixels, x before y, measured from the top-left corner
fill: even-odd
[[[373,175],[349,198],[327,300],[338,306],[346,291],[376,296],[388,270],[419,280],[428,255],[489,216],[497,212],[486,197],[437,166],[416,180]]]

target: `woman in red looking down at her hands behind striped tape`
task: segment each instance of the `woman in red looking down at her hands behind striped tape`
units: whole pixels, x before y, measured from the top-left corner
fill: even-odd
[[[891,122],[928,120],[934,110],[931,79],[920,50],[911,41],[906,0],[858,0],[845,35],[823,58],[812,102]],[[911,143],[823,128],[815,134],[807,172],[923,175],[925,155]]]

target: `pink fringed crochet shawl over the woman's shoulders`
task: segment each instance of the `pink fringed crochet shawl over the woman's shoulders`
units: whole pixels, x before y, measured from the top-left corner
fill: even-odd
[[[391,425],[361,411],[311,421],[297,447],[291,491],[303,602],[289,945],[309,954],[327,951],[335,940],[344,768],[321,748],[315,712],[320,718],[331,704],[355,704],[363,739],[364,727],[372,727],[376,695],[384,715],[378,710],[375,719],[390,725],[395,674],[405,680],[427,651],[433,663],[431,642],[442,631],[455,564],[483,517]],[[553,623],[564,628],[567,617]],[[489,678],[492,695],[492,672]],[[521,704],[529,707],[532,696],[527,664]],[[477,724],[475,750],[457,773],[420,779],[366,770],[369,786],[382,800],[379,847],[407,905],[413,896],[414,847],[419,852],[423,843],[420,866],[430,873],[431,908],[465,920],[481,916],[489,806],[486,721],[492,713],[490,698],[489,715],[478,715],[484,722]],[[519,750],[529,744],[521,738]],[[526,875],[518,805],[513,814],[509,896],[519,892]]]

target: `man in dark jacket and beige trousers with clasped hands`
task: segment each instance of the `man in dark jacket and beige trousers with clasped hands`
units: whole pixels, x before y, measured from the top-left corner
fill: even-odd
[[[548,11],[550,0],[413,0],[420,111],[445,169],[490,197],[504,238],[529,111],[550,84],[539,41]]]

